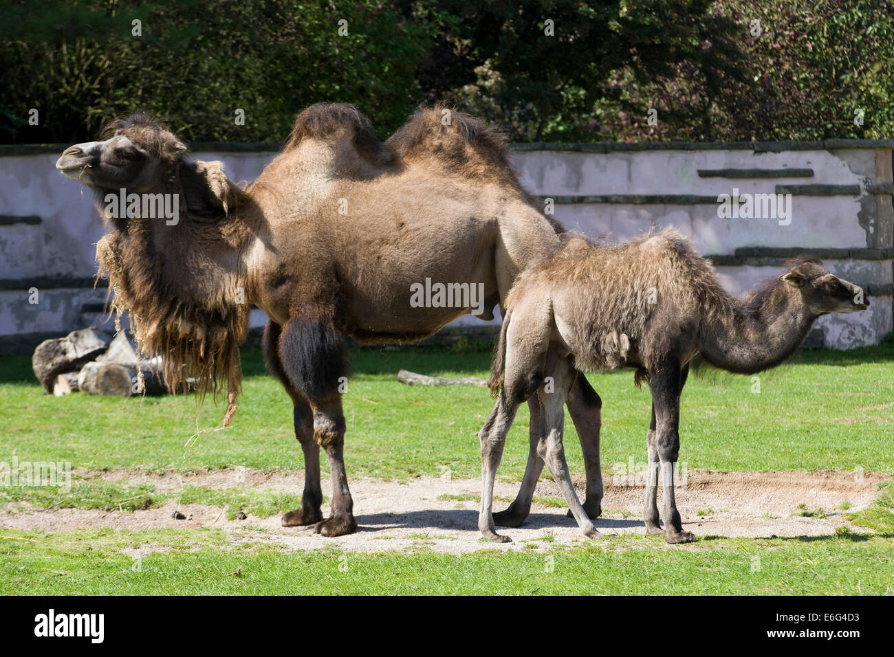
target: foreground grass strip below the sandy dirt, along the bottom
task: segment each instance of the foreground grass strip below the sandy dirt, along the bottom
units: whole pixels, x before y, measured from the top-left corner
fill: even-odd
[[[214,530],[4,534],[2,594],[894,593],[890,536],[704,538],[687,549],[628,536],[545,554],[453,556],[233,546]],[[167,548],[138,559],[148,543]]]

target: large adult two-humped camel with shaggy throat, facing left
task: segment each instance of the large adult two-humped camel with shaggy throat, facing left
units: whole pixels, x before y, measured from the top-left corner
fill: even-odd
[[[67,148],[56,167],[97,192],[109,228],[97,260],[113,306],[128,311],[141,349],[163,357],[169,386],[188,375],[202,390],[227,383],[225,425],[236,409],[249,305],[266,312],[267,364],[291,396],[306,468],[301,507],[283,525],[315,525],[327,536],[357,527],[342,455],[345,337],[417,341],[468,313],[468,302],[414,307],[411,286],[426,278],[483,289],[481,316],[493,317],[519,272],[558,240],[502,141],[447,109],[418,111],[382,143],[352,105],[312,105],[245,190],[220,163],[190,160],[145,114],[112,122],[101,139]],[[118,198],[126,212],[110,212]],[[164,201],[179,215],[152,218]],[[583,375],[568,406],[585,456],[584,507],[595,518],[601,400]],[[534,446],[543,417],[536,400],[529,408]],[[325,519],[321,447],[333,484]],[[543,467],[532,449],[519,497],[498,522],[527,517]]]

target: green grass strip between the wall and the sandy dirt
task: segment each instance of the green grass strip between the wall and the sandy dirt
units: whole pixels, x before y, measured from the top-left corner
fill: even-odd
[[[427,375],[486,376],[489,353],[449,349],[357,350],[344,397],[349,476],[406,479],[479,476],[475,435],[493,406],[474,387],[426,388],[397,382],[399,369]],[[266,374],[256,350],[244,353],[245,381],[232,428],[223,405],[195,397],[110,398],[41,394],[27,357],[0,360],[0,457],[71,461],[73,467],[303,467],[291,401]],[[621,371],[588,375],[603,398],[603,467],[645,459],[649,392]],[[760,375],[708,371],[690,376],[680,411],[680,459],[690,468],[792,470],[830,467],[894,472],[894,341],[848,352],[807,351]],[[510,432],[500,475],[517,480],[527,459],[527,411]],[[199,434],[191,442],[190,436]],[[567,423],[569,467],[582,459]],[[3,460],[3,458],[0,458]],[[7,459],[8,460],[8,459]],[[325,459],[324,459],[325,467]]]

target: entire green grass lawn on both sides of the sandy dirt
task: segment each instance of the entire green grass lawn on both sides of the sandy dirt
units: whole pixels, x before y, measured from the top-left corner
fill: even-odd
[[[427,375],[485,376],[486,350],[449,348],[355,350],[344,398],[349,476],[395,484],[415,476],[477,477],[475,433],[490,412],[484,389],[420,388],[397,383],[399,369]],[[211,432],[223,406],[194,397],[123,400],[43,394],[27,357],[0,358],[0,461],[69,461],[72,467],[187,471],[198,467],[303,467],[291,430],[291,403],[266,374],[260,353],[243,353],[245,381],[232,428]],[[603,469],[645,460],[647,390],[629,372],[589,375],[603,397]],[[690,469],[854,469],[894,474],[894,340],[879,347],[807,351],[751,377],[707,371],[690,376],[681,409],[680,459]],[[569,466],[582,472],[577,436],[567,425]],[[197,434],[198,429],[198,434]],[[191,438],[191,440],[190,440]],[[527,412],[510,433],[500,476],[518,481],[527,459]],[[325,467],[325,459],[324,459]],[[91,487],[92,486],[92,487]],[[74,483],[72,495],[0,487],[0,501],[38,507],[105,508],[122,492]],[[295,492],[299,493],[299,492]],[[196,489],[194,501],[224,504],[224,493]],[[291,495],[233,503],[255,512],[291,508]],[[225,497],[225,495],[224,495]],[[542,553],[487,550],[462,557],[425,549],[375,555],[287,552],[248,541],[227,546],[219,532],[157,530],[16,532],[0,536],[0,593],[890,593],[894,580],[894,514],[887,491],[858,514],[875,535],[814,539],[704,537],[669,548],[652,536],[612,538],[557,548],[554,568]],[[127,507],[133,508],[133,506]],[[126,510],[126,508],[125,508]],[[164,543],[163,552],[132,559],[122,545]],[[91,549],[88,550],[87,548]],[[552,552],[551,552],[552,554]],[[753,557],[760,569],[753,571]],[[344,564],[347,564],[346,566]],[[242,567],[239,575],[230,573]],[[341,567],[341,568],[340,568]],[[699,577],[701,576],[701,577]]]

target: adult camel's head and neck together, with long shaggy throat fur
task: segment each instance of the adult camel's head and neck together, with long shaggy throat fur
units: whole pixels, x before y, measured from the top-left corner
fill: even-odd
[[[189,377],[203,393],[226,383],[228,424],[248,330],[240,249],[249,231],[236,212],[248,194],[221,163],[191,161],[181,139],[142,113],[66,148],[56,168],[97,192],[110,228],[97,243],[99,274],[143,356],[162,357],[172,390]]]

